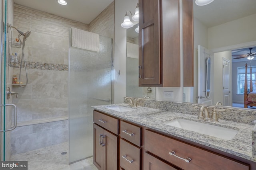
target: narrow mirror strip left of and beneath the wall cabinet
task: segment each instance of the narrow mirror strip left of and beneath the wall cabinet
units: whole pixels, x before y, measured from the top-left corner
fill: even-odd
[[[139,87],[138,65],[139,46],[138,24],[126,29],[126,96],[134,98],[155,99],[154,87]]]

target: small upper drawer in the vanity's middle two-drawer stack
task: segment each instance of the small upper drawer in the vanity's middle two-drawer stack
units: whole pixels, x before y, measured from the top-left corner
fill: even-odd
[[[120,121],[120,136],[140,147],[142,141],[142,128],[125,121]]]

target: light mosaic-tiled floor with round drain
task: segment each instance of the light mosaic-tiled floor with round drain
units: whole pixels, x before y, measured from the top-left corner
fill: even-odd
[[[28,170],[97,170],[92,158],[68,164],[68,143],[15,154],[11,160],[28,161]]]

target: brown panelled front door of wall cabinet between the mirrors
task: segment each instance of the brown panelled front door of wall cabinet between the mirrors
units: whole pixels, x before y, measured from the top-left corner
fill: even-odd
[[[139,0],[139,86],[160,84],[160,0]]]

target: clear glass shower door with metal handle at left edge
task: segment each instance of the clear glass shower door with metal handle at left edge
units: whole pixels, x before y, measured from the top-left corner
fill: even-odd
[[[8,66],[8,18],[7,18],[8,1],[1,0],[1,56],[0,56],[0,160],[8,161],[11,156],[10,131],[16,128],[16,106],[7,96],[11,96],[8,86],[10,72],[12,69]],[[9,91],[8,91],[9,89]],[[9,95],[6,95],[9,94]]]

